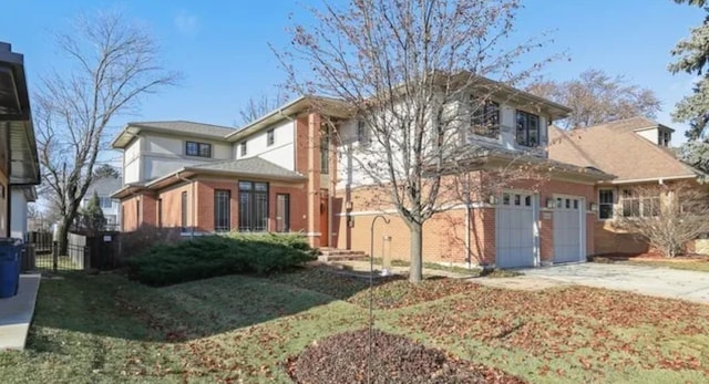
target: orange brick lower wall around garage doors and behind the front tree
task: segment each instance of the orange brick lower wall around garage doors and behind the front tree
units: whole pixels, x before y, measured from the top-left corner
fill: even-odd
[[[554,258],[554,211],[544,208],[546,199],[555,194],[577,196],[589,203],[596,203],[593,185],[577,184],[565,180],[520,180],[508,186],[510,189],[532,190],[538,194],[542,211],[541,224],[541,258],[551,261]],[[337,191],[335,199],[333,230],[337,231],[336,246],[342,249],[361,250],[370,252],[370,226],[376,215],[374,211],[384,210],[389,214],[391,222],[384,225],[377,222],[374,230],[374,256],[380,256],[382,237],[391,236],[391,256],[397,259],[408,259],[410,252],[410,232],[403,219],[395,216],[389,206],[383,205],[384,195],[374,188],[356,188],[349,191]],[[348,226],[348,219],[343,215],[347,209],[345,201],[352,201],[353,226]],[[594,222],[595,212],[586,215],[586,248],[588,255],[594,253]],[[483,205],[471,209],[470,253],[473,263],[491,264],[495,258],[495,209]],[[423,255],[428,261],[443,261],[465,263],[467,251],[465,249],[465,209],[462,207],[435,215],[423,226]]]

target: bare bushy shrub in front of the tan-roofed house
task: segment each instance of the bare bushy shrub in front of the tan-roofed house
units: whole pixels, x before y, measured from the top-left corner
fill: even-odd
[[[709,195],[685,183],[640,187],[624,200],[618,216],[618,228],[674,258],[688,241],[709,232]]]

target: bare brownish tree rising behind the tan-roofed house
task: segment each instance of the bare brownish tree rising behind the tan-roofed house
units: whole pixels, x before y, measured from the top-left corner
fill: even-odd
[[[654,118],[660,110],[655,92],[600,70],[584,71],[578,79],[566,82],[537,81],[527,90],[571,107],[568,118],[557,123],[569,129],[638,115]]]

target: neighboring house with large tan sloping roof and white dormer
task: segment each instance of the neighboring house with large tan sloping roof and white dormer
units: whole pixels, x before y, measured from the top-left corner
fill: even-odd
[[[669,149],[675,131],[646,117],[633,117],[564,132],[552,127],[549,157],[602,169],[615,176],[596,184],[595,252],[643,253],[647,242],[614,228],[618,216],[651,215],[660,198],[638,196],[637,188],[675,181],[697,183],[701,173]],[[698,184],[697,184],[698,185]],[[699,185],[698,185],[699,187]]]

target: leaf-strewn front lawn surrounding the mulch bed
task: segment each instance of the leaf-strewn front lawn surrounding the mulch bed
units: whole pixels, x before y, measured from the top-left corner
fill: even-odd
[[[368,282],[320,270],[150,288],[117,274],[42,280],[6,383],[289,382],[284,362],[367,325]],[[533,383],[707,382],[709,307],[590,288],[380,280],[376,326]]]

